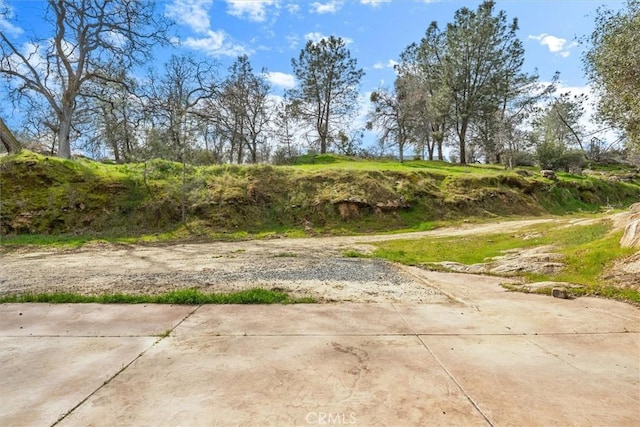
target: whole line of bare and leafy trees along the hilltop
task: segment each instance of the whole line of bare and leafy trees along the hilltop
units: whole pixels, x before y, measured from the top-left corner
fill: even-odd
[[[274,96],[266,70],[239,56],[220,66],[172,56],[142,75],[151,51],[170,43],[171,23],[151,0],[49,0],[46,38],[28,50],[0,32],[0,76],[24,129],[70,158],[72,146],[109,153],[116,162],[162,157],[201,163],[286,162],[304,150],[363,154],[364,129],[354,127],[364,71],[344,40],[309,41],[291,61],[296,85]],[[601,9],[585,37],[585,69],[600,94],[603,126],[640,148],[633,64],[639,0],[619,12]],[[0,12],[1,13],[1,12]],[[5,11],[6,13],[6,11]],[[378,132],[377,153],[425,159],[567,168],[599,160],[610,147],[581,126],[587,100],[555,95],[558,76],[541,83],[523,71],[518,21],[495,2],[463,7],[445,26],[400,53],[391,88],[370,96],[366,129]],[[635,60],[635,62],[634,62]],[[631,64],[631,65],[630,65]],[[631,67],[631,68],[630,68]],[[6,113],[4,113],[6,114]],[[1,122],[9,152],[20,144]],[[18,133],[21,140],[28,137]]]

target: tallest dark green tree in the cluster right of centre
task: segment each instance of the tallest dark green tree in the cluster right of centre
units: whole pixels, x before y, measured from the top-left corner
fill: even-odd
[[[466,7],[447,24],[444,77],[453,97],[460,162],[466,163],[467,132],[481,114],[491,114],[509,99],[514,77],[524,63],[518,21],[497,14],[495,2],[485,0],[476,11]]]

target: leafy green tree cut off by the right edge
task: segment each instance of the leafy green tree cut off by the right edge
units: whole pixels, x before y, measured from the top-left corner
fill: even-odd
[[[640,148],[640,0],[627,0],[618,12],[599,9],[586,42],[583,61],[600,94],[601,118],[624,129],[628,141]]]

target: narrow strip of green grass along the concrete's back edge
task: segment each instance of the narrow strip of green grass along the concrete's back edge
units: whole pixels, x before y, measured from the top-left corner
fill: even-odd
[[[203,293],[198,289],[181,289],[159,295],[77,293],[42,293],[0,296],[0,304],[7,303],[97,303],[97,304],[304,304],[315,303],[313,298],[292,298],[284,292],[254,288],[232,293]]]

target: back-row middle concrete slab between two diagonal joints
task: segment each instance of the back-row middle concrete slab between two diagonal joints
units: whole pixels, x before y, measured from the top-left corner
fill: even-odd
[[[203,306],[174,335],[410,334],[393,304]]]

